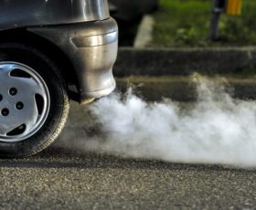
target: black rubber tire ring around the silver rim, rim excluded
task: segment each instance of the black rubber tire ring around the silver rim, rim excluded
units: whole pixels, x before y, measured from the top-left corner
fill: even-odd
[[[0,44],[2,61],[19,62],[37,71],[48,87],[50,107],[47,120],[34,135],[21,142],[0,142],[0,156],[23,156],[39,152],[57,138],[59,130],[64,126],[61,121],[67,104],[64,79],[53,61],[34,47]]]

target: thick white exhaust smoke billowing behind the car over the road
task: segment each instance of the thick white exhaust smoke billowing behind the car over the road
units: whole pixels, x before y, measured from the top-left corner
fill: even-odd
[[[224,79],[194,75],[197,101],[148,103],[131,89],[91,105],[93,133],[76,147],[171,163],[256,166],[256,102],[235,100]]]

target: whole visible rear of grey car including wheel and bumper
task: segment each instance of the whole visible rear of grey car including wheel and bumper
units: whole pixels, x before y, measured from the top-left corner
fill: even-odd
[[[14,158],[57,139],[69,100],[115,89],[118,27],[108,0],[8,0],[0,12],[0,156]]]

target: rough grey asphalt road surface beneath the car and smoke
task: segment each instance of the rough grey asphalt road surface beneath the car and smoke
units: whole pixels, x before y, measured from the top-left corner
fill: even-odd
[[[65,146],[83,132],[81,109],[72,104],[66,131],[46,151],[0,160],[0,209],[255,208],[253,170],[131,160]]]

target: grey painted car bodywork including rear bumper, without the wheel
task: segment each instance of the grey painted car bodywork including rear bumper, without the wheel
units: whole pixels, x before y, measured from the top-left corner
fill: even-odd
[[[87,103],[115,88],[118,28],[108,0],[0,0],[0,14],[0,33],[23,27],[65,53],[78,80],[75,100]]]

